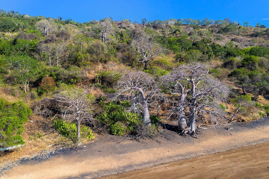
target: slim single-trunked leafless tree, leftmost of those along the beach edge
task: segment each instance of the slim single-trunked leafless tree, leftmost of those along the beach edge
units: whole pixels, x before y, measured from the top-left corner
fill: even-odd
[[[90,88],[74,87],[54,95],[58,102],[61,117],[64,120],[75,121],[77,127],[77,140],[80,140],[80,123],[94,124],[92,111],[94,98],[91,96]]]

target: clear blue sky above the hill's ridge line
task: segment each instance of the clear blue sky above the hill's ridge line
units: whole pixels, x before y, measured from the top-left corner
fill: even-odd
[[[30,16],[72,18],[77,22],[90,22],[104,17],[114,20],[131,19],[140,22],[141,18],[148,20],[165,19],[203,19],[213,20],[230,18],[243,24],[251,25],[258,22],[269,27],[269,0],[118,0],[118,1],[29,1],[0,0],[0,9],[15,10]]]

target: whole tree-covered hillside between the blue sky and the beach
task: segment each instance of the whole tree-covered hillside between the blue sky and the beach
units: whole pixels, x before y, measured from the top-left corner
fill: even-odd
[[[0,148],[81,144],[97,127],[141,138],[164,122],[197,136],[269,116],[266,26],[89,21],[0,10]]]

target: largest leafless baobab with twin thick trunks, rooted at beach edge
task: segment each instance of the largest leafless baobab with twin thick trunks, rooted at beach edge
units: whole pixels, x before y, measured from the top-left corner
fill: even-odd
[[[220,102],[225,101],[229,87],[209,74],[210,66],[193,62],[176,67],[161,78],[170,92],[178,129],[196,135],[196,123],[225,122],[225,112]]]

